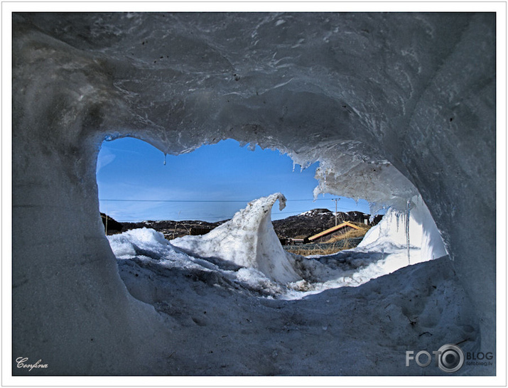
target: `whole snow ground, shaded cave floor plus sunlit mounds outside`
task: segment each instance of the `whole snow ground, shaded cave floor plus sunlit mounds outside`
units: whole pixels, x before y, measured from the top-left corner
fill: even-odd
[[[442,374],[406,367],[405,351],[466,338],[464,348],[477,346],[448,257],[422,263],[445,249],[421,201],[409,217],[411,264],[421,264],[401,269],[407,215],[388,210],[356,249],[301,257],[274,238],[276,200],[283,208],[280,193],[260,198],[204,236],[170,243],[144,228],[108,237],[131,295],[176,338],[171,373]]]

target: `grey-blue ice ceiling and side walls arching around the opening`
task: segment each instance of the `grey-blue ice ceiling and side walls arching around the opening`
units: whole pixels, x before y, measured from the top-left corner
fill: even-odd
[[[100,224],[97,153],[121,136],[279,149],[381,205],[421,193],[492,350],[495,113],[495,14],[14,14],[14,354],[114,374],[156,340]]]

